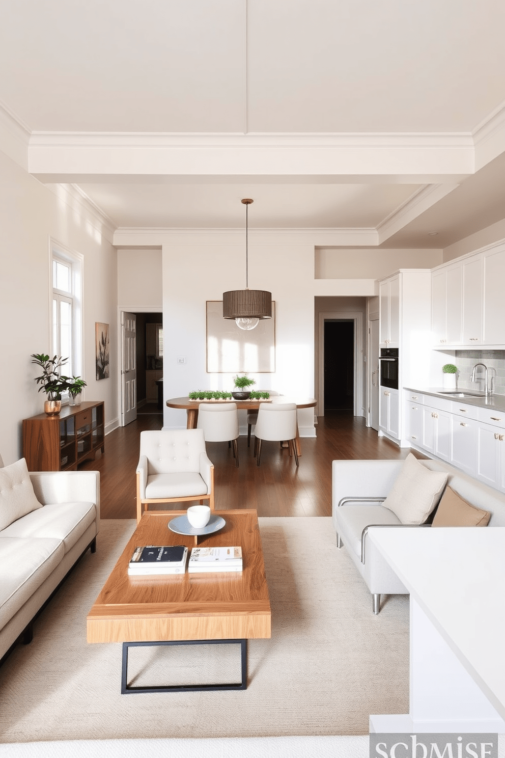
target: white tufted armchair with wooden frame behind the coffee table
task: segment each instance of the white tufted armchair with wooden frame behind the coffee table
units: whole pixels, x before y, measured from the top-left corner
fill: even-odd
[[[142,431],[137,477],[137,521],[151,503],[208,500],[214,511],[214,464],[201,429]]]

